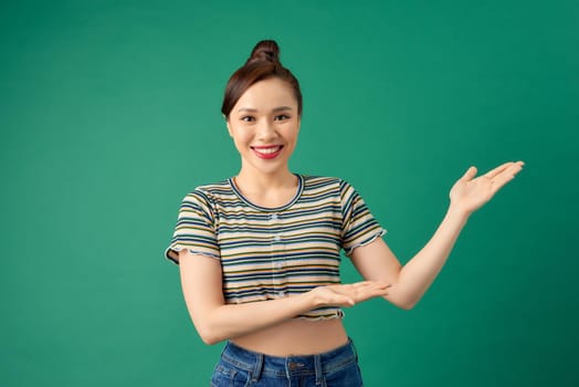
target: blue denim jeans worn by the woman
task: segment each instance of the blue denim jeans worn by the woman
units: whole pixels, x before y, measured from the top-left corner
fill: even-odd
[[[318,355],[270,356],[225,344],[211,377],[213,387],[361,387],[358,355],[348,343]]]

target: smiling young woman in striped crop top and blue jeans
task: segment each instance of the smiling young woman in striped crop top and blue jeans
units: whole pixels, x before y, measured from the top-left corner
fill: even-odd
[[[476,178],[476,168],[469,168],[452,187],[432,239],[401,266],[347,181],[290,170],[302,94],[274,41],[259,42],[231,76],[222,113],[241,169],[185,197],[166,251],[179,264],[203,342],[228,341],[212,386],[361,386],[341,308],[372,297],[413,307],[470,215],[523,163]],[[340,283],[341,250],[365,282]]]

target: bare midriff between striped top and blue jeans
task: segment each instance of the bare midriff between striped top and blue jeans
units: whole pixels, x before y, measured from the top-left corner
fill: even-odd
[[[343,346],[348,342],[348,335],[340,318],[293,318],[231,342],[272,356],[315,355]]]

